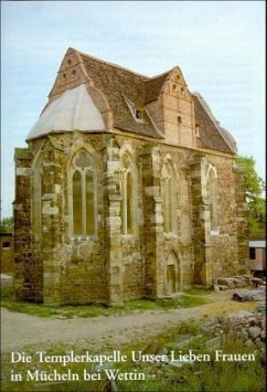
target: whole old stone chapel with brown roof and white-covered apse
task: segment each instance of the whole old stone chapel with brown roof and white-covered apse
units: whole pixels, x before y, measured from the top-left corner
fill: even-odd
[[[26,142],[18,299],[115,306],[248,272],[235,140],[179,66],[147,77],[70,47]]]

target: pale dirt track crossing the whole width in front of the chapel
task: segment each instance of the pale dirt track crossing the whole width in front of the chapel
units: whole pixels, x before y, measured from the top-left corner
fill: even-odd
[[[55,343],[113,347],[142,340],[160,333],[168,327],[190,319],[227,315],[237,310],[253,310],[259,303],[231,300],[234,290],[211,293],[209,304],[194,308],[134,311],[131,314],[94,318],[41,318],[1,309],[1,350],[22,350],[33,346],[42,348]]]

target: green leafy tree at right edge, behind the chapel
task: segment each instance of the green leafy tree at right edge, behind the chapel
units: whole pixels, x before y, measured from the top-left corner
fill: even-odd
[[[265,190],[265,183],[256,172],[255,159],[253,157],[237,157],[236,162],[245,167],[249,234],[264,233],[266,204],[261,194]]]

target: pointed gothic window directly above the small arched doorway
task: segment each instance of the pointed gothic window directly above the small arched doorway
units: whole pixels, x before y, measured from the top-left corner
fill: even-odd
[[[165,161],[161,171],[161,195],[163,206],[163,230],[164,233],[175,232],[175,201],[174,201],[174,178],[169,161]]]

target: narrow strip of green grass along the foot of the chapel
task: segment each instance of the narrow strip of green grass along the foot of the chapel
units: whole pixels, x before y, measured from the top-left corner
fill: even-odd
[[[157,300],[136,299],[126,303],[124,307],[106,307],[102,305],[63,305],[58,307],[51,307],[44,304],[34,304],[21,300],[17,301],[12,298],[11,287],[1,287],[1,306],[12,311],[24,312],[26,315],[39,317],[88,318],[131,311],[189,308],[204,304],[206,304],[206,300],[203,298],[203,293],[201,292],[200,296],[197,296],[196,290],[193,294],[186,292],[177,298]]]

